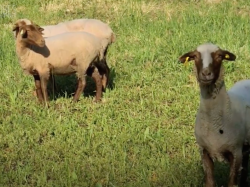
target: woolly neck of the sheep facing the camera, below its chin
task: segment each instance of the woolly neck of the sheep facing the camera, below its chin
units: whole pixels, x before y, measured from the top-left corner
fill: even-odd
[[[223,69],[217,81],[209,86],[200,85],[200,109],[202,125],[206,129],[221,130],[230,116],[231,104],[223,79]],[[206,123],[205,123],[206,121]]]

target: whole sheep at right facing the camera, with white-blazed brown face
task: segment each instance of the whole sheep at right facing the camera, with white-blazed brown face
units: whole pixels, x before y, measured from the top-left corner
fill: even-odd
[[[228,92],[223,76],[223,60],[234,61],[229,51],[208,43],[180,57],[182,63],[194,60],[200,86],[200,107],[195,136],[201,148],[205,186],[215,186],[214,162],[230,163],[229,187],[246,186],[250,141],[250,80],[237,82]]]

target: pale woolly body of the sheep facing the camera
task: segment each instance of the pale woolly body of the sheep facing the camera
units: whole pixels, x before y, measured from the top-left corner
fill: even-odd
[[[219,161],[225,160],[225,151],[241,152],[242,145],[250,142],[250,80],[222,90],[216,100],[201,99],[195,127],[197,143]]]

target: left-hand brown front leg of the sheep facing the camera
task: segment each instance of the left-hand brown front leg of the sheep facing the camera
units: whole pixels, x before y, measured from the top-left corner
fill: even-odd
[[[205,186],[206,187],[214,187],[214,162],[210,157],[207,150],[203,149],[202,152],[202,162],[203,162],[203,169],[205,172]]]

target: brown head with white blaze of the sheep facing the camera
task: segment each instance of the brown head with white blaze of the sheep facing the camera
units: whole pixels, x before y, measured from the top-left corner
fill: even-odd
[[[201,85],[214,84],[220,76],[222,61],[235,59],[233,53],[211,43],[202,44],[196,50],[185,53],[179,58],[181,63],[194,60],[197,80]]]

